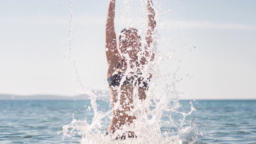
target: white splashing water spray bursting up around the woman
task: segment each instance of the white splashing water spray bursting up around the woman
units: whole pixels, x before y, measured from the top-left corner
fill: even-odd
[[[163,0],[164,1],[164,0]],[[161,9],[163,5],[163,1],[155,2],[154,5],[158,6]],[[193,107],[192,102],[190,102],[190,111],[182,112],[182,108],[180,105],[180,97],[182,93],[176,90],[176,77],[177,71],[179,67],[176,68],[175,64],[177,61],[179,50],[174,50],[174,48],[180,48],[175,43],[176,38],[174,34],[166,35],[161,32],[164,31],[168,26],[175,26],[180,23],[180,19],[177,22],[173,22],[170,24],[166,24],[168,22],[169,14],[172,12],[170,8],[168,8],[164,12],[157,11],[157,7],[155,7],[156,12],[156,21],[157,26],[154,34],[152,35],[154,44],[148,48],[149,50],[154,51],[155,59],[149,64],[145,65],[142,68],[143,77],[148,77],[148,73],[152,73],[152,78],[150,79],[148,91],[146,91],[146,99],[140,100],[138,98],[138,88],[134,88],[134,108],[131,110],[131,115],[136,116],[136,120],[134,123],[129,126],[123,126],[122,130],[117,130],[115,132],[116,135],[106,136],[107,128],[110,119],[112,118],[112,109],[110,110],[99,110],[98,104],[96,103],[96,99],[98,97],[97,94],[92,92],[90,89],[86,89],[80,80],[78,69],[76,67],[76,57],[72,54],[72,26],[73,26],[73,1],[70,1],[70,30],[68,34],[68,40],[70,40],[70,58],[72,62],[73,69],[77,75],[77,82],[82,87],[82,94],[88,94],[90,96],[90,104],[91,108],[94,111],[94,117],[92,118],[92,122],[86,122],[84,120],[76,120],[73,115],[73,120],[70,124],[63,126],[63,138],[72,137],[78,140],[83,144],[94,144],[94,143],[104,143],[104,144],[170,144],[170,143],[200,143],[200,136],[202,135],[198,132],[198,128],[195,124],[195,120],[192,119],[190,124],[186,121],[186,116],[190,115],[196,109]],[[122,3],[120,1],[120,3]],[[137,4],[134,4],[135,1],[124,0],[124,12],[126,12],[126,17],[120,16],[120,19],[127,24],[127,27],[131,26],[140,26],[141,23],[137,24],[136,21],[142,21],[142,25],[146,27],[146,20],[143,20],[138,15],[132,15],[133,9],[136,5],[135,13],[143,13],[146,14],[145,10],[145,0],[136,1]],[[141,12],[143,10],[144,12]],[[175,13],[175,12],[174,12]],[[146,16],[146,15],[144,15]],[[133,21],[134,20],[134,21]],[[169,28],[171,29],[171,28]],[[146,32],[139,31],[140,35],[143,36]],[[180,28],[180,37],[183,36],[184,30]],[[163,38],[164,37],[164,38]],[[142,38],[142,44],[146,43],[146,40]],[[194,46],[194,45],[193,45]],[[186,46],[184,46],[185,49]],[[162,49],[161,49],[162,48]],[[186,49],[185,49],[186,50]],[[126,56],[125,54],[123,56]],[[126,56],[128,57],[128,56]],[[138,58],[140,59],[140,57]],[[128,58],[129,60],[129,58]],[[150,60],[148,60],[150,61]],[[134,64],[136,65],[136,64]],[[130,63],[128,62],[127,70],[125,72],[126,75],[129,75],[128,72],[132,72],[135,69],[130,68]],[[123,76],[120,83],[125,81],[125,76]],[[118,100],[120,100],[120,87],[117,89],[119,91]],[[114,109],[117,109],[120,104],[117,102],[114,106]],[[175,116],[180,117],[179,120],[175,120]],[[123,134],[127,131],[132,131],[137,136],[136,138],[126,138],[125,140],[115,140],[117,134]]]

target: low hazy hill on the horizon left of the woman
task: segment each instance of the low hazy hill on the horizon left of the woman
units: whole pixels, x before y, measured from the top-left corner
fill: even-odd
[[[97,99],[109,98],[109,94],[105,91],[97,92]],[[57,95],[32,95],[32,96],[18,96],[12,94],[0,94],[0,100],[88,100],[87,94],[78,96],[57,96]]]

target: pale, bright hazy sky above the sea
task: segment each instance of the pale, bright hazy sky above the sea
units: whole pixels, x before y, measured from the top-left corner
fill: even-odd
[[[256,1],[152,1],[159,73],[176,73],[182,99],[256,98]],[[107,0],[1,0],[0,5],[0,94],[108,90]],[[145,0],[116,0],[116,33],[128,26],[145,34]]]

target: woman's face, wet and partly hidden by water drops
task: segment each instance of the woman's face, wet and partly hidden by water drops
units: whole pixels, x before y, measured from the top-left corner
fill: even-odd
[[[119,49],[123,54],[129,54],[130,58],[136,58],[140,47],[140,36],[138,36],[137,32],[125,32],[121,35]]]

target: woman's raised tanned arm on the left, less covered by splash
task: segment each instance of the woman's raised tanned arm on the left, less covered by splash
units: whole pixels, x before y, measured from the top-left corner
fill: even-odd
[[[114,68],[121,60],[117,50],[116,32],[114,27],[116,0],[109,0],[106,20],[106,57],[108,63],[107,77],[114,72]]]

